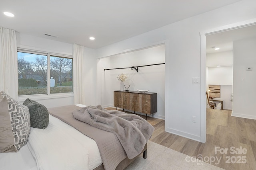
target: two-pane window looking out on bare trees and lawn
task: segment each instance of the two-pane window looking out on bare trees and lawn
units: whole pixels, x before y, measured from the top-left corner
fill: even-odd
[[[18,50],[18,82],[19,96],[73,92],[73,59]]]

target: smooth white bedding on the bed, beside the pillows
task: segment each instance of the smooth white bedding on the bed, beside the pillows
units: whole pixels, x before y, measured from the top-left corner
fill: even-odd
[[[46,129],[31,127],[19,152],[0,153],[3,170],[92,170],[100,164],[96,142],[51,115]]]

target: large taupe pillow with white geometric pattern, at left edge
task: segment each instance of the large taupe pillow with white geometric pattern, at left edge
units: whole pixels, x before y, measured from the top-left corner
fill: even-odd
[[[18,152],[28,142],[29,133],[28,107],[0,92],[0,152]]]

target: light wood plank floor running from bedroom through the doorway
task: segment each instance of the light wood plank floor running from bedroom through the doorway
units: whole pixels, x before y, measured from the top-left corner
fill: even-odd
[[[256,120],[233,117],[231,111],[226,110],[207,109],[206,112],[206,143],[165,132],[164,120],[148,116],[148,122],[155,127],[150,141],[188,156],[203,158],[205,162],[226,170],[256,170]],[[140,116],[146,119],[146,116]],[[228,150],[215,154],[215,147]],[[242,149],[247,152],[238,154]]]

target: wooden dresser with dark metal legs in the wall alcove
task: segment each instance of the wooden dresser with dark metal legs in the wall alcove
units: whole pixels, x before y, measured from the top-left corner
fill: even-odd
[[[137,91],[114,91],[114,106],[148,114],[157,112],[157,93]]]

